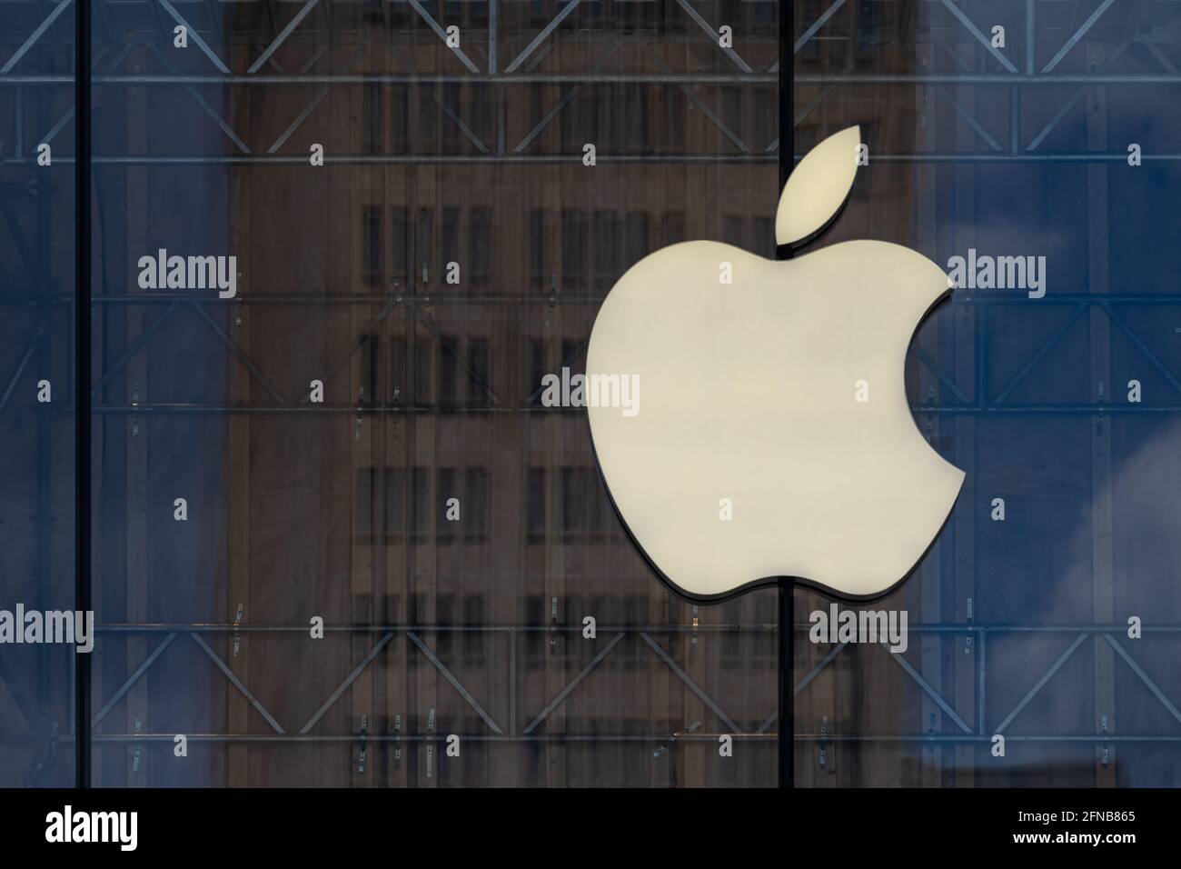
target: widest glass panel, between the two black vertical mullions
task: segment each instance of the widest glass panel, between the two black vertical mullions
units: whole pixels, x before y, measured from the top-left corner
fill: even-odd
[[[655,247],[771,253],[774,4],[96,8],[96,784],[774,784],[776,592],[672,595],[539,400]]]

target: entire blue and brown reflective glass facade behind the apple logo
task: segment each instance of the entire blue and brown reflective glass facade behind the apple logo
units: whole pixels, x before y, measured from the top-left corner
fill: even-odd
[[[781,144],[853,124],[820,244],[960,270],[907,384],[967,478],[867,604],[905,653],[795,592],[795,785],[1177,783],[1181,11],[788,6],[94,0],[79,216],[74,8],[0,2],[0,608],[73,605],[89,329],[96,785],[779,784],[778,592],[660,584],[540,398],[646,254],[774,257]],[[0,648],[0,784],[73,780],[74,681]]]

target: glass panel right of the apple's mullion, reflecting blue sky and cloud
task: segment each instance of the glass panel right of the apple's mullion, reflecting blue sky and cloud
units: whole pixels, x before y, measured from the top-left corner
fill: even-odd
[[[796,151],[861,124],[868,166],[826,244],[972,275],[907,357],[914,421],[967,479],[874,604],[908,611],[909,669],[841,650],[796,699],[796,782],[1172,785],[1181,122],[1176,45],[1153,34],[1179,11],[850,2],[816,28],[831,8],[796,5]],[[833,649],[796,648],[797,679]]]

